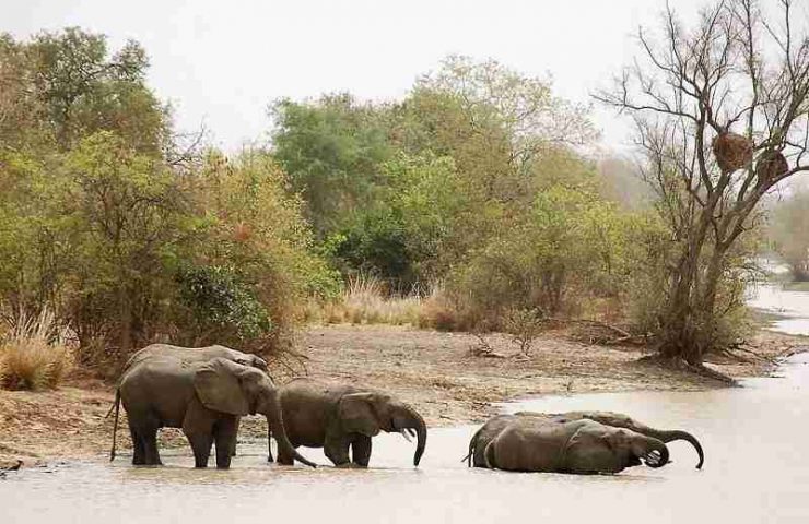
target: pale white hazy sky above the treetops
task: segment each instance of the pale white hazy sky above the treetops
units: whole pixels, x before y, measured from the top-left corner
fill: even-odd
[[[671,0],[694,13],[703,0]],[[448,53],[494,58],[554,80],[558,95],[588,102],[636,51],[638,24],[658,22],[663,0],[0,0],[0,31],[24,38],[78,25],[117,49],[140,41],[150,85],[176,107],[179,129],[200,122],[237,147],[266,135],[274,98],[350,91],[403,96]],[[596,109],[603,142],[626,127]]]

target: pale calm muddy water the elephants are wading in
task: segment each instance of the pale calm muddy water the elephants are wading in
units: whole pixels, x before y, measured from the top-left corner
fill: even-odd
[[[774,295],[775,296],[775,295]],[[809,305],[809,297],[806,298]],[[763,303],[763,302],[762,302]],[[801,301],[802,303],[802,301]],[[766,305],[764,305],[766,306]],[[772,305],[771,305],[772,306]],[[773,307],[778,307],[773,306]],[[809,317],[809,315],[808,315]],[[798,318],[798,317],[796,317]],[[504,410],[609,409],[701,439],[705,465],[684,442],[672,463],[614,476],[468,469],[460,462],[476,427],[430,431],[419,468],[400,436],[374,439],[367,471],[268,465],[266,442],[239,446],[230,471],[191,468],[187,450],[163,453],[161,468],[69,463],[0,480],[2,523],[807,523],[809,522],[809,354],[778,378],[693,393],[549,396]],[[302,450],[328,464],[319,450]]]

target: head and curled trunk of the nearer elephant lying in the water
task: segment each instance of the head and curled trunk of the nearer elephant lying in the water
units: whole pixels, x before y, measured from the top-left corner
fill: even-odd
[[[564,463],[573,473],[618,473],[641,461],[649,467],[669,462],[668,448],[655,438],[590,420],[568,424],[579,425],[564,450]]]

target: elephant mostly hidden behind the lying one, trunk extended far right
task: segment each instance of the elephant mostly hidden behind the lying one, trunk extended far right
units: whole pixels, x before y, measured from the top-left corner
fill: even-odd
[[[518,412],[514,415],[499,415],[492,417],[486,421],[469,441],[469,454],[464,458],[467,460],[469,466],[485,467],[484,450],[491,440],[497,436],[506,426],[512,421],[520,417],[536,417],[544,420],[553,420],[556,422],[566,422],[573,420],[588,419],[596,422],[611,426],[613,428],[630,429],[636,433],[652,437],[664,443],[672,442],[675,440],[684,440],[694,446],[696,454],[699,455],[699,462],[696,468],[702,468],[704,462],[704,453],[700,441],[694,436],[681,430],[666,430],[650,428],[642,422],[638,422],[631,417],[621,413],[614,412],[567,412],[567,413],[537,413],[537,412]]]

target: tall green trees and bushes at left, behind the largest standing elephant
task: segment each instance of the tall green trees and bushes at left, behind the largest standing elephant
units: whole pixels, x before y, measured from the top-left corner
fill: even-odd
[[[339,279],[267,153],[180,146],[136,43],[0,37],[0,307],[54,311],[84,364],[149,342],[285,340]]]

